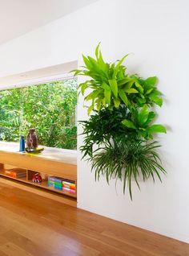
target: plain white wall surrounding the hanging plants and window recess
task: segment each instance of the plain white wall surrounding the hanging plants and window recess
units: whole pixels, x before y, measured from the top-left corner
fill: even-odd
[[[159,120],[169,127],[159,137],[167,177],[151,180],[134,200],[122,184],[94,182],[90,165],[78,159],[78,207],[189,242],[188,45],[189,3],[184,0],[101,0],[0,47],[0,76],[79,60],[101,41],[107,61],[133,52],[130,72],[159,76],[165,104]],[[78,120],[86,118],[82,101]],[[82,138],[78,138],[78,147]]]

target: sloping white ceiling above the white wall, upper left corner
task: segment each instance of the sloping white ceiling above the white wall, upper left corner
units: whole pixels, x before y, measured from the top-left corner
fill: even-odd
[[[0,0],[0,44],[97,0]]]

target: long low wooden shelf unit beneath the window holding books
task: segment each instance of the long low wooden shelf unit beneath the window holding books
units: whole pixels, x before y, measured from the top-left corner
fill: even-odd
[[[47,197],[54,200],[57,198],[62,199],[62,202],[66,204],[77,206],[77,159],[75,151],[73,151],[73,154],[70,151],[51,151],[51,154],[50,151],[44,151],[41,155],[30,155],[15,152],[14,150],[15,148],[11,151],[10,146],[9,149],[6,150],[6,147],[2,148],[0,143],[0,177],[4,178],[0,179],[2,182],[6,179],[12,180],[13,184],[17,182],[18,184],[32,186],[36,188],[32,190],[32,192],[36,191],[36,193],[38,193],[40,190],[41,195],[43,191],[43,196],[47,196],[49,192],[51,194]],[[5,171],[14,167],[19,167],[23,171],[26,171],[26,177],[14,178],[6,175]],[[32,182],[32,177],[35,172],[39,172],[42,175],[42,183]],[[75,193],[48,186],[47,176],[58,176],[62,179],[73,180]],[[23,188],[23,186],[21,187]]]

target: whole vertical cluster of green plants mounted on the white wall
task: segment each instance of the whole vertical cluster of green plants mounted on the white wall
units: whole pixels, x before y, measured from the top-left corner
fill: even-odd
[[[90,92],[84,101],[88,121],[80,122],[83,127],[84,141],[80,150],[82,158],[92,164],[95,180],[104,175],[109,184],[111,179],[123,181],[123,192],[128,187],[131,200],[131,184],[139,187],[139,176],[143,181],[155,175],[161,180],[166,174],[157,149],[159,143],[153,141],[156,133],[166,133],[155,120],[155,105],[162,106],[162,93],[157,89],[157,77],[143,79],[137,74],[128,74],[123,66],[123,56],[115,63],[103,60],[99,45],[95,59],[82,56],[85,66],[74,70],[74,76],[89,76],[90,80],[78,85],[78,94]]]

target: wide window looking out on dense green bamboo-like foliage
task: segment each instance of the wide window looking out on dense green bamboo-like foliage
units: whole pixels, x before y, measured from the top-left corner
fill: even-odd
[[[76,149],[76,105],[75,79],[2,90],[0,140],[18,142],[35,128],[41,145]]]

